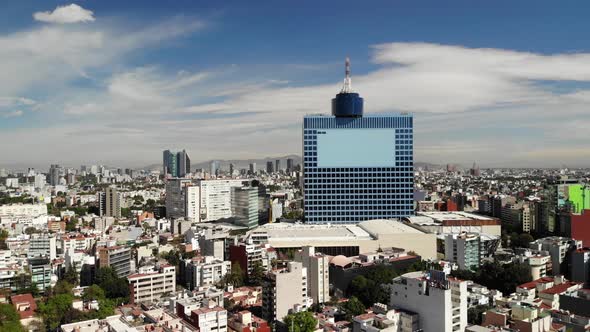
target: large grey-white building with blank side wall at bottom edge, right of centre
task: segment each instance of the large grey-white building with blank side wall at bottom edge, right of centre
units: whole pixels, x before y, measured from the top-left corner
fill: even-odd
[[[467,281],[441,271],[410,272],[393,280],[390,306],[420,316],[420,331],[463,331],[467,326]]]

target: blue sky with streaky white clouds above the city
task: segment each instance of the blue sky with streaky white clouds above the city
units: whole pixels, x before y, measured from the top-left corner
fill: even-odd
[[[0,166],[301,154],[344,59],[416,161],[590,166],[588,1],[3,1]]]

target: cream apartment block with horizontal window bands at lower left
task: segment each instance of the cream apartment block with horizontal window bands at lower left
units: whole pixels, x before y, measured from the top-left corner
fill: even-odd
[[[163,295],[176,291],[176,268],[162,265],[158,269],[140,269],[139,273],[127,276],[129,298],[133,303],[157,302]]]

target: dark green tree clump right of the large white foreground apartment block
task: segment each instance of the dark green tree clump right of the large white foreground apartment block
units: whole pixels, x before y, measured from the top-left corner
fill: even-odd
[[[486,262],[475,271],[457,270],[452,276],[497,289],[504,294],[514,293],[516,286],[532,280],[531,271],[526,264]]]

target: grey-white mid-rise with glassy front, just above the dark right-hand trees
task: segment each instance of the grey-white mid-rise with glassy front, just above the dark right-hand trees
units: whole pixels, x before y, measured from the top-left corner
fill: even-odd
[[[445,236],[445,259],[462,270],[478,268],[483,254],[479,234],[461,233]]]

